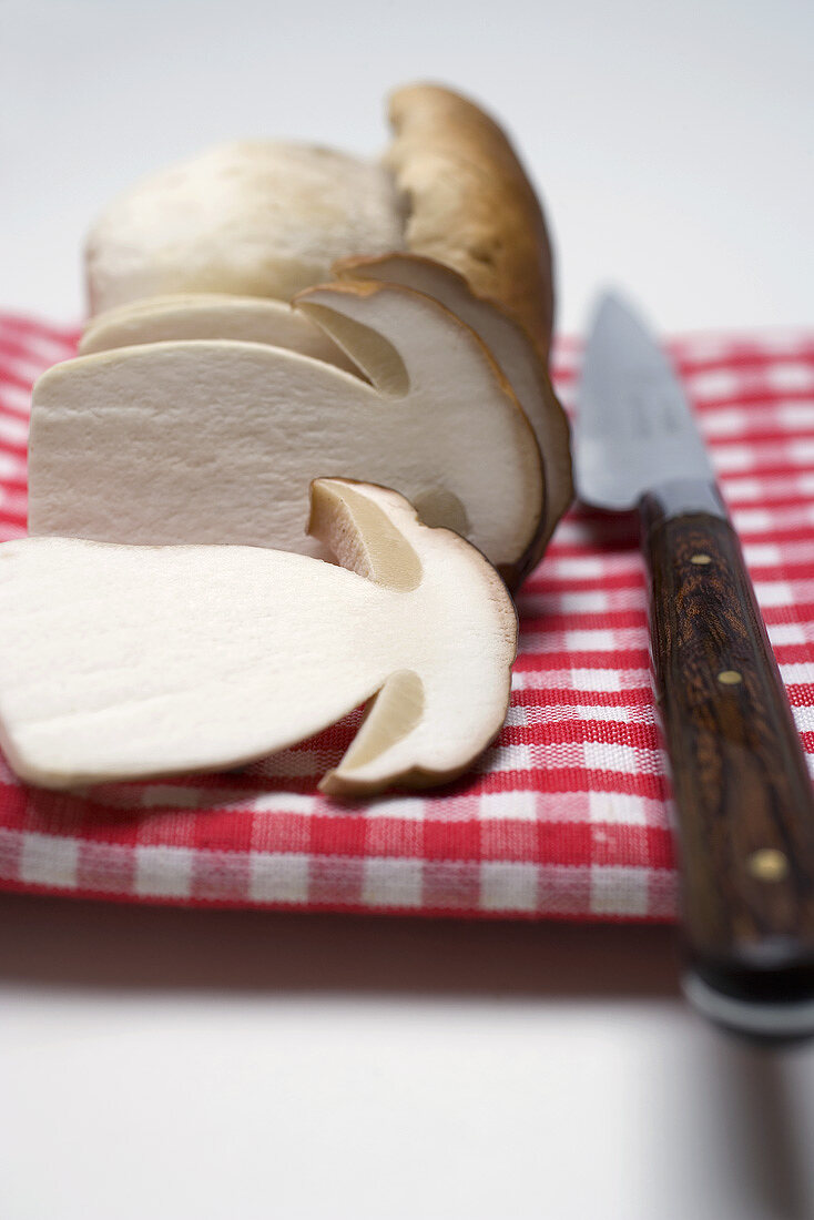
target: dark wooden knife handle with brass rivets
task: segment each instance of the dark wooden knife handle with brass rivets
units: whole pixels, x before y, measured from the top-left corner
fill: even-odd
[[[672,769],[691,1000],[757,1037],[814,1033],[814,795],[737,536],[641,504]]]

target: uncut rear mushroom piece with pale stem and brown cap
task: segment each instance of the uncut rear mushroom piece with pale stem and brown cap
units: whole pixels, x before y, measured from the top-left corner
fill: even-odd
[[[221,145],[138,183],[94,224],[92,314],[145,296],[290,300],[339,259],[404,250],[458,271],[548,359],[552,250],[502,128],[437,84],[397,89],[383,161],[312,145]]]

